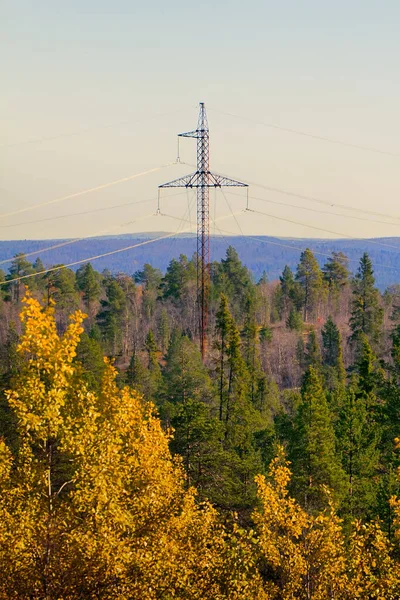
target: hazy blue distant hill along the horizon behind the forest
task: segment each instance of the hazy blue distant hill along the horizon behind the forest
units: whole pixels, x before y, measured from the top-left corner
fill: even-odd
[[[37,254],[30,257],[32,261],[40,256],[46,266],[67,264],[111,252],[124,246],[134,245],[136,242],[143,242],[159,235],[162,234],[147,233],[89,238],[50,252],[40,252],[40,249],[62,243],[65,240],[0,241],[0,260],[12,258],[17,252],[35,252]],[[393,248],[380,246],[376,242],[388,244]],[[381,290],[393,283],[400,283],[400,238],[326,240],[285,239],[270,236],[257,236],[257,239],[251,236],[215,236],[211,240],[212,259],[221,259],[229,245],[236,248],[240,258],[256,279],[262,275],[264,270],[270,280],[277,279],[286,264],[294,269],[298,263],[300,251],[310,248],[313,252],[319,252],[322,255],[329,255],[333,251],[344,252],[351,261],[354,261],[350,262],[353,271],[357,269],[357,262],[362,253],[368,252],[374,264],[377,285]],[[395,246],[398,246],[398,250]],[[113,273],[124,272],[131,275],[148,262],[165,271],[172,258],[179,254],[191,256],[195,250],[195,236],[182,235],[97,259],[94,261],[94,265],[99,271],[109,269]],[[322,265],[327,256],[317,255],[317,258]],[[9,264],[1,265],[1,267],[7,270]]]

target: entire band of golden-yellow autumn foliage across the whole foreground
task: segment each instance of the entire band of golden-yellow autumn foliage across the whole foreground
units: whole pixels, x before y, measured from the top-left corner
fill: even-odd
[[[282,450],[256,479],[255,531],[227,529],[110,363],[99,394],[87,389],[74,361],[84,315],[59,336],[53,309],[28,296],[21,318],[14,456],[0,440],[0,600],[400,598],[378,524],[356,524],[346,549],[328,490],[314,516],[289,496]]]

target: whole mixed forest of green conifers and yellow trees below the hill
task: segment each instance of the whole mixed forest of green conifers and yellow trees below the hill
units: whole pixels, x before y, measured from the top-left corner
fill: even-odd
[[[0,273],[0,599],[398,599],[400,284],[196,260]]]

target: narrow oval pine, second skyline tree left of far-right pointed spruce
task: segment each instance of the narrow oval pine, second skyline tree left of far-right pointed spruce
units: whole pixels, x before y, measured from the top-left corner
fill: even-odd
[[[307,318],[316,311],[323,292],[322,272],[309,248],[306,248],[300,255],[296,281],[300,284],[303,292],[303,318],[306,322]]]

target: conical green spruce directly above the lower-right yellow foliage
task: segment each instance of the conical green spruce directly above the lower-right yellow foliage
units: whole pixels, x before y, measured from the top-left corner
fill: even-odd
[[[336,438],[318,372],[310,367],[302,386],[302,401],[295,418],[291,458],[294,492],[311,511],[326,503],[328,486],[337,500],[343,495],[344,473],[336,455]]]

